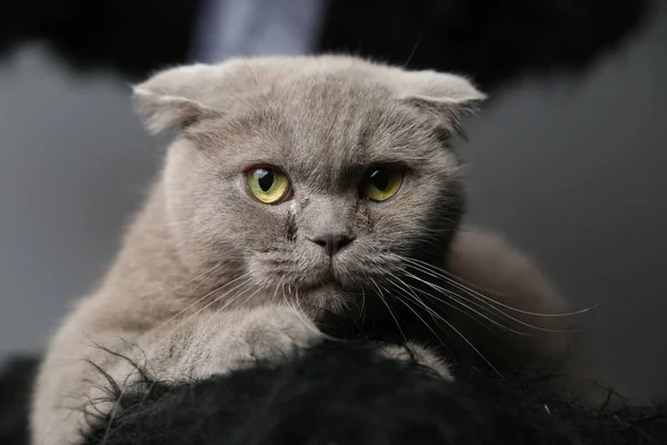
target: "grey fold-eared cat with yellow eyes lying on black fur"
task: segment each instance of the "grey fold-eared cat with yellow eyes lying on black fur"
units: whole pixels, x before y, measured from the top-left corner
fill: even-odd
[[[48,348],[33,444],[77,443],[112,412],[103,374],[137,382],[125,357],[163,380],[206,378],[331,338],[334,315],[381,326],[380,353],[452,378],[434,326],[565,310],[525,255],[461,226],[452,146],[485,99],[466,78],[349,56],[239,58],[167,69],[133,93],[147,128],[176,137],[108,274]],[[542,330],[518,360],[563,353],[564,319],[522,322]]]

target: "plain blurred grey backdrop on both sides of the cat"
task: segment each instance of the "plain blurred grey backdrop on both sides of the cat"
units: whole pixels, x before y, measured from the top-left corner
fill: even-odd
[[[474,219],[542,264],[600,359],[667,395],[667,20],[577,81],[527,81],[470,131]],[[38,350],[110,261],[161,142],[128,87],[39,47],[0,62],[0,357]]]

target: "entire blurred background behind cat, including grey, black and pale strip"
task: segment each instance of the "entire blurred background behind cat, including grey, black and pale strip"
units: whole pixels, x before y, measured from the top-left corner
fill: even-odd
[[[667,396],[667,8],[630,0],[27,1],[0,19],[0,360],[94,285],[165,140],[129,85],[236,55],[454,70],[492,100],[461,154],[470,219],[542,265],[595,353]]]

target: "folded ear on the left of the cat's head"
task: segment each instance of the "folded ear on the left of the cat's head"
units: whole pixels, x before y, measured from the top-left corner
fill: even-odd
[[[205,85],[219,77],[218,67],[193,65],[159,72],[133,87],[133,99],[151,134],[183,129],[215,113],[205,103]]]

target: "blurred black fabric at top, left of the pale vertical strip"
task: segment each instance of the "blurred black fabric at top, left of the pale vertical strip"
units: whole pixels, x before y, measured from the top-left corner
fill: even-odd
[[[46,42],[73,68],[143,78],[186,60],[198,0],[4,0],[0,55]]]

